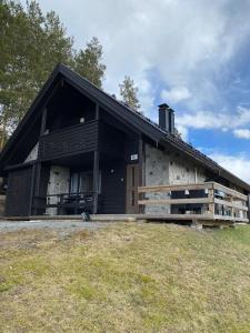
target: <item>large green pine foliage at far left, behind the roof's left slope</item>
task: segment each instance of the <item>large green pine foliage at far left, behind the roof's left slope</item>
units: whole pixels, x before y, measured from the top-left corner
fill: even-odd
[[[72,39],[54,12],[38,2],[0,1],[0,127],[8,132],[21,121],[58,62],[72,64]]]

